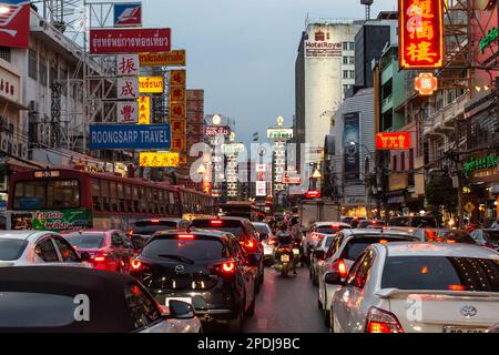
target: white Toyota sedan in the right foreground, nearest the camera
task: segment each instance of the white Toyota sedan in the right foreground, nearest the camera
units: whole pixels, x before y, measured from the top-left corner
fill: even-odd
[[[330,273],[328,283],[342,283]],[[330,310],[336,333],[485,333],[499,320],[499,254],[468,244],[374,244]]]

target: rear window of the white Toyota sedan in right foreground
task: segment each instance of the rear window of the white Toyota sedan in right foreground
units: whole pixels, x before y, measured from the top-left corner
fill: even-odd
[[[393,256],[385,263],[381,288],[499,292],[499,261]]]

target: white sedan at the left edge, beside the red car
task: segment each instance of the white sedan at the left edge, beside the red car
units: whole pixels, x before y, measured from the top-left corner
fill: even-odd
[[[83,256],[83,257],[81,257]],[[54,232],[0,232],[0,266],[48,265],[91,267],[64,237]]]

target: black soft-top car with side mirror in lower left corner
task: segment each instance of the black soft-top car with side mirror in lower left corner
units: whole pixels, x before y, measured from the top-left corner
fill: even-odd
[[[165,315],[140,282],[118,273],[0,267],[0,333],[170,333],[171,320],[195,321],[191,305],[169,306]]]

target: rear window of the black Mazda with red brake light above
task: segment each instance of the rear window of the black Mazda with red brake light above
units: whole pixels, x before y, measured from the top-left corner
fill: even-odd
[[[224,245],[221,241],[194,236],[182,240],[176,236],[159,237],[150,241],[142,251],[142,256],[155,260],[169,260],[166,255],[176,255],[192,261],[210,261],[224,257]]]

